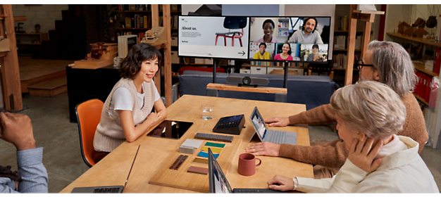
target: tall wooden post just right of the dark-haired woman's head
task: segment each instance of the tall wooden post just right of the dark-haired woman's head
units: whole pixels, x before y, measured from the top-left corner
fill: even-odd
[[[163,27],[166,27],[166,46],[164,49],[164,91],[166,96],[166,107],[172,103],[171,98],[171,33],[170,33],[170,4],[162,5]],[[163,35],[164,36],[164,35]]]

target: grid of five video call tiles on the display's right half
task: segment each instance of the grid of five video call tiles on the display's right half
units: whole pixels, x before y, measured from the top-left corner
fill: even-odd
[[[249,59],[328,61],[330,17],[251,17]]]

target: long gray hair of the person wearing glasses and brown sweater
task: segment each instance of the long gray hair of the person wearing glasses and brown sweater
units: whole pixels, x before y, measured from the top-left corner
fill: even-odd
[[[371,64],[378,70],[380,82],[387,84],[399,96],[413,91],[416,84],[414,64],[409,53],[395,42],[369,43],[368,50],[372,50]]]

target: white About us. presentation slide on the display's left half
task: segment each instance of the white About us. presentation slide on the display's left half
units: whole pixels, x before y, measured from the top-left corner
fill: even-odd
[[[179,16],[178,55],[247,59],[249,18]]]

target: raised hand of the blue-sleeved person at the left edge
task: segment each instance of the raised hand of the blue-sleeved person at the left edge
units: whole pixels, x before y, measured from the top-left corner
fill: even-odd
[[[27,115],[0,113],[0,125],[0,139],[13,144],[17,151],[35,148],[32,122]]]

